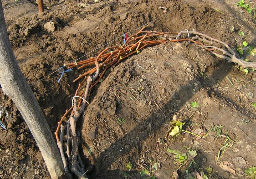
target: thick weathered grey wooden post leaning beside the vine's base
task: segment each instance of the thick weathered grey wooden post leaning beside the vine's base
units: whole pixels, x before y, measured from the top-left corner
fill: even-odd
[[[64,178],[62,159],[45,116],[12,51],[0,0],[0,84],[12,98],[44,157],[52,179]]]

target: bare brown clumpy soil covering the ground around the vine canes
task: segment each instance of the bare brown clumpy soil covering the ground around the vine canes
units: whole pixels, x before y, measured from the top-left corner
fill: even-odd
[[[15,56],[29,84],[124,31],[132,31],[131,35],[161,16],[149,23],[150,29],[195,29],[234,49],[245,40],[256,46],[253,16],[238,8],[235,0],[189,0],[179,6],[181,2],[184,1],[45,0],[47,10],[43,16],[37,14],[33,3],[5,9],[4,14]],[[8,7],[13,1],[2,3]],[[256,2],[249,4],[256,7]],[[160,6],[171,11],[164,15]],[[53,31],[44,28],[47,22],[53,22]],[[239,31],[245,35],[239,36]],[[122,43],[118,38],[108,46]],[[256,62],[256,57],[247,52],[242,58]],[[60,83],[60,74],[54,73],[31,86],[53,135],[57,122],[71,106],[78,85],[72,81],[80,73],[82,70],[65,73]],[[89,178],[146,178],[147,174],[141,174],[145,170],[151,178],[172,178],[181,164],[167,149],[197,152],[193,158],[196,164],[188,167],[187,162],[179,168],[180,178],[189,178],[195,171],[208,178],[245,178],[244,169],[256,165],[256,108],[251,105],[256,103],[255,86],[255,72],[245,75],[238,65],[188,42],[147,48],[112,67],[93,89],[90,105],[77,124],[82,159],[86,167],[93,166],[87,173]],[[9,100],[2,90],[0,96],[1,104]],[[192,102],[198,107],[193,108]],[[0,178],[50,178],[15,104],[8,101],[4,107],[14,123],[4,119],[7,129],[0,129]],[[172,139],[168,133],[174,118],[185,122],[185,130],[206,132],[207,136],[198,139],[182,132]],[[123,122],[117,123],[118,120]],[[220,125],[223,135],[214,138],[216,133],[210,129]],[[222,151],[217,161],[226,134],[233,145]],[[237,157],[241,162],[236,161]],[[131,169],[126,167],[129,162]]]

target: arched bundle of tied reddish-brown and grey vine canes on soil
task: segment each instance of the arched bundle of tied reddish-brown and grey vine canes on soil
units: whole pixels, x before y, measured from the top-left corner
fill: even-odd
[[[73,80],[73,82],[78,80],[80,80],[80,82],[72,99],[72,107],[66,110],[65,114],[58,122],[58,127],[55,132],[67,178],[71,178],[70,171],[79,178],[87,178],[86,172],[88,170],[85,171],[84,164],[78,152],[78,141],[80,141],[80,135],[79,132],[76,131],[76,122],[80,115],[84,112],[85,107],[89,104],[88,97],[91,89],[102,79],[104,73],[109,67],[116,66],[122,60],[133,54],[140,53],[141,50],[149,46],[162,44],[167,41],[189,41],[200,46],[206,51],[210,51],[218,58],[228,60],[228,62],[235,62],[244,68],[256,68],[256,63],[245,62],[239,59],[236,51],[226,43],[209,37],[203,33],[199,33],[194,30],[181,32],[156,32],[145,30],[145,28],[146,26],[144,26],[134,35],[131,35],[127,39],[126,44],[121,46],[106,47],[96,57],[66,65],[67,68],[77,67],[77,69],[82,69],[84,67],[87,67],[88,69],[88,66],[92,66],[91,69],[80,74],[76,79]],[[64,127],[62,123],[68,114],[69,119],[67,122],[65,122],[66,125]],[[60,129],[61,131],[59,132]],[[65,132],[66,138],[64,139]],[[72,145],[70,145],[70,142]],[[64,154],[64,150],[66,151],[66,155]]]

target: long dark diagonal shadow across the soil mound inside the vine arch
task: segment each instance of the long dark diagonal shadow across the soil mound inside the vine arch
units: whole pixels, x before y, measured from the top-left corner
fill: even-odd
[[[226,62],[221,62],[219,63],[219,66],[217,67],[217,69],[211,74],[211,76],[209,76],[206,79],[201,79],[201,82],[206,84],[204,85],[204,87],[211,88],[212,86],[216,85],[219,80],[223,79],[229,73],[230,70],[231,70],[231,64],[228,64]],[[177,101],[181,100],[179,99],[179,96],[183,94],[182,91],[187,90],[189,94],[187,99],[184,99],[183,101],[181,101],[178,107],[173,108],[174,112],[179,111],[186,104],[186,102],[192,98],[193,84],[195,81],[198,81],[198,79],[191,80],[190,82],[188,82],[188,84],[182,86],[180,90],[174,96],[172,96],[171,100],[165,105],[166,109],[172,109],[174,107],[174,104],[177,104]],[[109,147],[104,152],[102,152],[99,157],[95,158],[93,156],[94,164],[96,166],[99,166],[99,168],[95,168],[91,173],[90,177],[102,178],[104,176],[104,177],[111,177],[112,179],[123,178],[124,176],[120,173],[120,170],[109,169],[111,164],[113,164],[118,157],[122,157],[125,153],[129,153],[134,148],[137,148],[138,151],[141,151],[142,149],[140,146],[143,143],[143,141],[146,140],[151,134],[156,133],[163,126],[164,123],[168,122],[168,119],[171,117],[170,116],[171,114],[166,113],[167,119],[165,119],[165,117],[162,115],[162,118],[158,119],[158,123],[155,123],[154,125],[152,125],[152,130],[150,133],[141,131],[141,129],[147,128],[147,125],[152,121],[153,118],[157,117],[157,113],[161,113],[160,110],[158,110],[152,116],[148,117],[143,122],[139,123],[131,132],[127,133],[123,138],[113,143],[111,147]],[[140,145],[134,145],[134,146],[131,146],[129,149],[122,150],[121,154],[117,157],[108,157],[108,156],[111,156],[108,154],[112,153],[112,151],[123,148],[123,144],[125,143],[125,141],[128,141],[132,136],[134,136],[134,133],[138,133],[139,131],[140,133],[138,135],[140,136],[140,141],[141,141]],[[128,173],[133,172],[133,174],[135,172],[136,178],[141,177],[139,171],[137,170],[127,171],[127,172]]]

